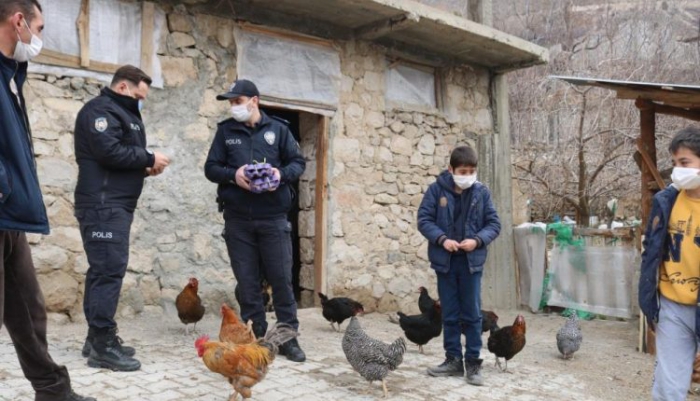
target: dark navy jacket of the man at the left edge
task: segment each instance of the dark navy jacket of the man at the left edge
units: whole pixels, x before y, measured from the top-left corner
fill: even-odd
[[[0,231],[48,234],[22,95],[26,78],[27,63],[0,53]]]

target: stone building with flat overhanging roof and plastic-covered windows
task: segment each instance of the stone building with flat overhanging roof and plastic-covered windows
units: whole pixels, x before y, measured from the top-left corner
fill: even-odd
[[[82,319],[87,269],[73,217],[73,123],[127,63],[155,79],[147,137],[172,164],[147,179],[135,213],[120,316],[169,310],[190,276],[209,310],[235,304],[203,164],[228,117],[215,96],[236,77],[258,83],[265,110],[290,121],[307,159],[290,216],[302,306],[321,290],[366,310],[412,311],[418,286],[435,293],[416,210],[456,144],[478,149],[504,227],[484,304],[515,305],[504,74],[548,56],[491,28],[490,0],[45,3],[45,51],[25,90],[52,225],[31,242],[55,318]]]

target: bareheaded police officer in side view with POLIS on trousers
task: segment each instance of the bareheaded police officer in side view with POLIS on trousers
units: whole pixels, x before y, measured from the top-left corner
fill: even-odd
[[[75,217],[90,265],[83,310],[88,335],[83,357],[91,367],[133,371],[135,350],[122,346],[114,315],[129,261],[129,231],[147,176],[163,172],[168,158],[146,148],[141,107],[151,78],[134,66],[117,70],[109,88],[87,102],[75,122],[78,184]]]

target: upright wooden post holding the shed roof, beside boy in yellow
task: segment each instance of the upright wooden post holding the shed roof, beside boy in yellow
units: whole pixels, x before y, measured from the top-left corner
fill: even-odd
[[[636,102],[639,108],[641,134],[639,137],[639,147],[647,155],[653,166],[656,166],[656,111],[653,104],[648,102]],[[649,183],[653,182],[654,175],[647,163],[642,163],[642,229],[645,229],[651,213],[651,203],[654,192],[649,188]],[[661,188],[663,189],[663,188]],[[641,331],[646,332],[646,341],[640,344],[640,351],[650,354],[656,353],[654,333],[647,327],[646,320],[642,317]]]

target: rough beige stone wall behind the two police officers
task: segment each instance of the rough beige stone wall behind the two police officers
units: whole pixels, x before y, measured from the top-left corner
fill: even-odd
[[[235,304],[216,186],[203,174],[216,124],[228,112],[215,96],[236,77],[234,22],[190,15],[182,6],[163,7],[168,29],[158,54],[165,88],[151,90],[144,119],[150,147],[168,154],[172,164],[163,175],[147,179],[135,213],[120,317],[146,309],[172,313],[174,298],[190,276],[199,278],[200,295],[212,313],[223,301]],[[418,286],[435,293],[416,210],[427,186],[446,167],[451,148],[474,146],[478,135],[490,133],[488,73],[443,71],[444,112],[387,111],[384,50],[354,41],[337,43],[337,48],[343,78],[339,110],[330,121],[327,287],[333,295],[358,298],[366,310],[413,311]],[[33,74],[25,87],[52,224],[50,235],[30,240],[55,318],[83,319],[87,262],[72,216],[77,178],[72,130],[78,110],[102,86],[89,79]],[[301,114],[301,146],[308,160],[299,191],[305,288],[314,284],[315,118]]]

